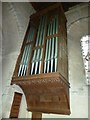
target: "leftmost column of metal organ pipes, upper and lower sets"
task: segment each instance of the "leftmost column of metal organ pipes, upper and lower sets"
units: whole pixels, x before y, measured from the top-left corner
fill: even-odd
[[[34,33],[35,33],[35,30],[33,28],[31,28],[30,31],[29,31],[29,34],[27,36],[26,43],[33,40]],[[18,76],[25,76],[26,73],[27,73],[28,63],[29,63],[30,55],[31,55],[31,49],[32,49],[31,44],[25,45],[23,55],[22,55],[22,58],[21,58],[21,62],[20,62],[20,65],[19,65]]]

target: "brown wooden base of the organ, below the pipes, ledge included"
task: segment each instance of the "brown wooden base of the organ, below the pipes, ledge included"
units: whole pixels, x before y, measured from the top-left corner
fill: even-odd
[[[59,73],[14,77],[12,84],[23,89],[28,111],[70,114],[70,86]]]

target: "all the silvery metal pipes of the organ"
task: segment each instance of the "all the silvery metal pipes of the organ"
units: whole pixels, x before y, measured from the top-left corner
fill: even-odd
[[[46,16],[40,18],[40,24],[37,29],[37,37],[35,47],[42,46],[44,44],[44,38],[46,35]],[[47,36],[58,33],[58,16],[54,16],[53,19],[48,23]],[[27,43],[31,42],[34,38],[35,30],[30,29],[27,36]],[[24,48],[22,59],[20,62],[18,76],[25,76],[27,73],[28,63],[30,60],[32,45],[27,44]],[[42,63],[43,48],[34,49],[33,57],[31,61],[30,75],[40,74],[41,63]],[[46,50],[44,59],[44,73],[56,72],[57,71],[57,56],[58,56],[58,37],[52,37],[46,39]]]

